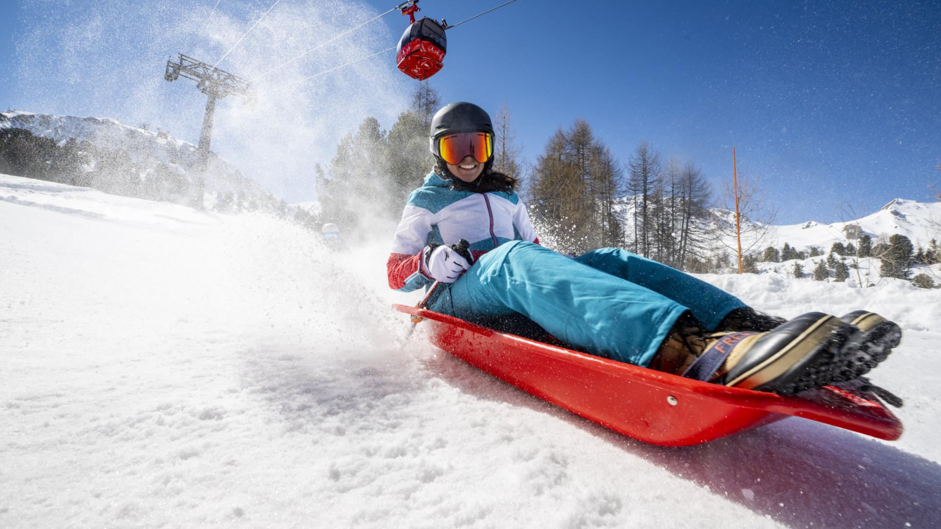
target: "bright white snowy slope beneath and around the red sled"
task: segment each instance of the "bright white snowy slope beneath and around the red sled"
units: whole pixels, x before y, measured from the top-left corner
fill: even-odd
[[[941,297],[706,276],[905,329],[887,443],[791,418],[663,449],[404,340],[388,236],[333,255],[217,216],[0,176],[0,527],[933,527]],[[630,403],[624,403],[630,406]]]

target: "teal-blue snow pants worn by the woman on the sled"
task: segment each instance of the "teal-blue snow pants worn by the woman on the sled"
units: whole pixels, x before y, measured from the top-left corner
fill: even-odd
[[[556,338],[646,367],[687,311],[715,329],[739,298],[618,248],[570,259],[512,241],[482,255],[457,281],[440,284],[428,309],[470,321],[523,314]]]

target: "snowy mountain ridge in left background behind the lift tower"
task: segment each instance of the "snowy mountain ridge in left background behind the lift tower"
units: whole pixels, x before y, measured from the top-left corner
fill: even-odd
[[[188,184],[195,181],[194,168],[198,156],[196,146],[170,136],[167,131],[131,127],[108,118],[53,116],[16,110],[0,113],[0,129],[4,128],[25,129],[34,136],[56,141],[60,147],[70,140],[77,143],[87,141],[102,152],[125,152],[134,165],[133,172],[136,173],[128,176],[139,177],[144,183],[149,178],[183,178]],[[103,156],[99,152],[98,157]],[[85,169],[91,170],[102,162],[102,159],[93,159]],[[132,194],[120,190],[109,192]],[[228,202],[229,207],[244,206],[275,211],[280,204],[280,200],[215,153],[210,155],[205,193],[205,202],[210,207],[224,200]],[[183,194],[167,195],[161,200],[177,203],[189,201]]]

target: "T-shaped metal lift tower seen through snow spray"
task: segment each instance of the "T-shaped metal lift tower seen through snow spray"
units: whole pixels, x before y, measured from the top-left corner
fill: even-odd
[[[209,167],[209,145],[213,136],[213,115],[215,114],[215,100],[231,94],[250,98],[248,81],[233,75],[230,72],[219,70],[191,56],[179,54],[179,61],[167,60],[167,72],[164,79],[176,81],[185,77],[196,81],[196,88],[206,94],[206,112],[202,117],[202,130],[199,132],[199,147],[197,149],[197,175],[195,190],[195,203],[201,208],[203,193],[205,191],[206,168]]]

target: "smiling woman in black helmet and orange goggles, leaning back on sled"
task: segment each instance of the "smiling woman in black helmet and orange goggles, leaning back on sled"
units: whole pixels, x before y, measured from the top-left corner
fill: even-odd
[[[516,181],[493,170],[482,108],[444,106],[430,140],[437,163],[408,198],[388,269],[403,292],[439,281],[432,311],[476,322],[522,314],[598,356],[782,394],[859,377],[899,343],[899,327],[877,314],[786,322],[622,249],[570,259],[539,246]]]

